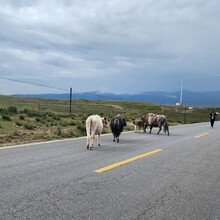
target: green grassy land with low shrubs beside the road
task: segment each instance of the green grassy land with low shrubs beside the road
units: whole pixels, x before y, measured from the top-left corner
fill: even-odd
[[[70,113],[71,110],[71,113]],[[85,136],[91,114],[111,119],[123,115],[128,122],[149,112],[164,114],[169,125],[209,121],[210,108],[162,106],[146,102],[89,101],[0,96],[0,146]],[[220,111],[220,109],[215,109]],[[134,130],[128,123],[125,130]],[[103,133],[110,132],[104,129]]]

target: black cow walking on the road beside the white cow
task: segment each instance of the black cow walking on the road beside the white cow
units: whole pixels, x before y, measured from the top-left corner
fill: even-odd
[[[117,143],[119,143],[119,136],[121,132],[123,131],[124,126],[126,126],[126,121],[124,118],[121,117],[120,114],[113,117],[110,122],[110,128],[113,134],[113,141],[115,141],[115,138],[117,139]]]

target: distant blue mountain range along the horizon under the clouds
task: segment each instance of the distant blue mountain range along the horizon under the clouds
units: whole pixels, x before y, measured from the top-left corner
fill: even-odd
[[[45,99],[69,99],[70,94],[16,94],[19,97],[34,97]],[[73,99],[88,100],[124,100],[141,101],[162,105],[176,105],[180,102],[180,91],[175,92],[142,92],[136,94],[114,94],[101,92],[73,93]],[[220,91],[215,92],[192,92],[183,90],[182,105],[197,107],[220,107]]]

